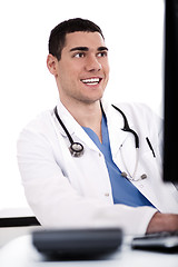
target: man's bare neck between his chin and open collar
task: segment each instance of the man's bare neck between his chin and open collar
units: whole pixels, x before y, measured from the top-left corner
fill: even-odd
[[[67,103],[62,100],[61,102],[81,127],[88,127],[93,130],[102,142],[102,110],[99,100],[92,103],[80,102],[78,105],[72,105],[71,102]]]

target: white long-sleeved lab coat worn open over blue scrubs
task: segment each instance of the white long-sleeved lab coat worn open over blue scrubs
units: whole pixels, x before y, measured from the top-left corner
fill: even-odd
[[[112,158],[121,171],[132,174],[136,162],[134,135],[121,130],[123,118],[102,102],[107,116]],[[178,191],[161,181],[160,121],[142,105],[118,105],[140,140],[139,164],[132,181],[161,212],[178,214]],[[58,112],[75,141],[85,147],[80,158],[69,152],[69,139],[53,110],[41,113],[20,134],[18,162],[27,200],[46,227],[121,227],[126,234],[144,234],[157,211],[151,207],[113,205],[103,155],[59,101]],[[149,138],[154,158],[146,137]],[[120,147],[122,146],[122,157]],[[126,166],[125,166],[125,162]],[[125,178],[123,178],[125,179]]]

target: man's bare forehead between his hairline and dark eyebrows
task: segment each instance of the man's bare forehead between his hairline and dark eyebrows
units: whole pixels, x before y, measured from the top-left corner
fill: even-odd
[[[66,46],[63,49],[70,50],[73,47],[88,47],[97,49],[105,46],[105,40],[99,32],[77,31],[66,34]]]

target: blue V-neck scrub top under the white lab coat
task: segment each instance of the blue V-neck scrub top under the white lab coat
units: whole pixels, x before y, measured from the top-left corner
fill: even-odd
[[[125,204],[131,207],[139,206],[154,207],[154,205],[127,178],[121,176],[120,169],[113,162],[110,150],[107,118],[105,113],[102,113],[101,122],[102,144],[100,142],[98,136],[90,128],[87,127],[82,128],[105,156],[112,188],[113,202]]]

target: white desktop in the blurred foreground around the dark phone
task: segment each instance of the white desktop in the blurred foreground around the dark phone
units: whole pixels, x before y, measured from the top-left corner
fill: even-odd
[[[31,235],[18,237],[0,249],[2,267],[177,267],[178,254],[132,250],[125,238],[119,250],[96,260],[49,261],[31,244]]]

